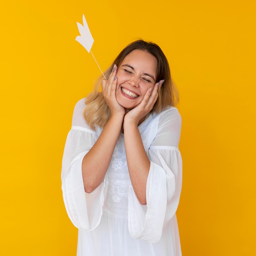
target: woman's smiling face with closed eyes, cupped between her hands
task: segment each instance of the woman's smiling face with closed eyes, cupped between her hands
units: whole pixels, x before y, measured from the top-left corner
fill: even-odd
[[[136,49],[130,52],[117,70],[117,102],[126,109],[141,103],[149,88],[156,83],[157,59]]]

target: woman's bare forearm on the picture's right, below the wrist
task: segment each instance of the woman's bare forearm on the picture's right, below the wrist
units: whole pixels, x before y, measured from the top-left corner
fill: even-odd
[[[150,161],[145,152],[137,124],[124,122],[124,144],[130,180],[141,204],[146,204],[146,183]]]

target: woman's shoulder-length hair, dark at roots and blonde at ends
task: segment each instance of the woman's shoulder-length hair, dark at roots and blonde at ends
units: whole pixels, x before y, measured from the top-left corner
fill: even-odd
[[[114,64],[118,67],[124,58],[135,49],[146,51],[155,56],[157,59],[156,81],[164,79],[164,83],[158,93],[157,101],[153,106],[153,109],[146,115],[146,119],[151,112],[159,114],[168,106],[176,106],[179,101],[179,94],[177,87],[171,79],[169,64],[161,48],[155,43],[146,42],[144,40],[137,40],[126,46],[120,52],[112,65],[104,72],[106,79],[110,76]],[[94,130],[96,126],[104,127],[110,118],[110,109],[100,91],[101,81],[103,79],[104,77],[101,75],[95,83],[93,92],[91,92],[85,99],[86,107],[84,109],[83,116],[87,124]]]

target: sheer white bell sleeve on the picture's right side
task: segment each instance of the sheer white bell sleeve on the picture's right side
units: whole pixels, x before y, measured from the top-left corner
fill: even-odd
[[[146,205],[141,205],[130,187],[128,227],[133,238],[157,243],[165,225],[175,216],[182,186],[182,158],[178,149],[181,117],[176,108],[153,120],[147,151],[150,170]]]

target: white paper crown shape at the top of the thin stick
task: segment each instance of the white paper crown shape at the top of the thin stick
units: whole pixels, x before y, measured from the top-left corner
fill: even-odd
[[[76,41],[81,43],[83,47],[87,50],[87,52],[90,53],[90,50],[92,48],[92,44],[94,42],[90,29],[87,25],[87,22],[85,20],[85,16],[83,14],[83,25],[81,25],[79,22],[76,22],[79,33],[81,36],[76,36]]]

